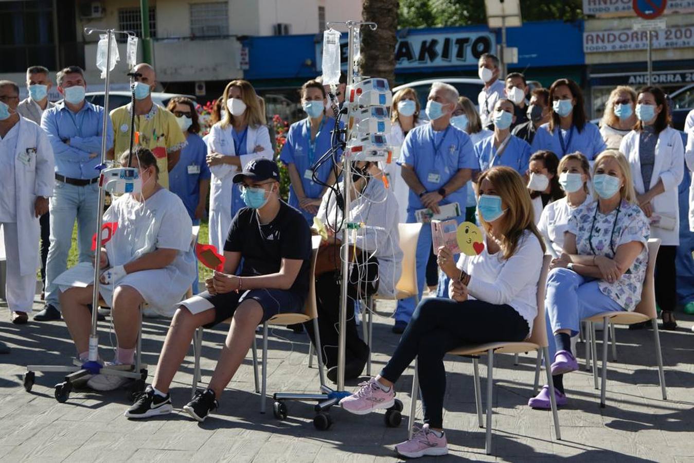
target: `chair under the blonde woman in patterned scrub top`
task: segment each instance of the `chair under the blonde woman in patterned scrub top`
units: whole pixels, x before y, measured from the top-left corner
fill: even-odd
[[[658,332],[658,314],[655,310],[655,260],[658,255],[661,240],[652,238],[648,240],[648,266],[643,280],[643,289],[641,289],[641,301],[636,305],[633,312],[602,312],[595,314],[593,317],[583,319],[582,322],[589,323],[588,337],[591,342],[591,351],[593,357],[593,382],[595,389],[598,389],[598,368],[595,362],[597,360],[597,347],[595,343],[595,326],[593,323],[602,321],[604,328],[602,330],[602,385],[600,387],[600,407],[605,406],[605,388],[607,385],[607,327],[614,325],[632,325],[634,323],[642,323],[650,321],[653,327],[653,338],[655,341],[656,357],[658,360],[658,373],[660,379],[661,392],[663,393],[663,401],[668,400],[668,394],[665,385],[665,375],[663,373],[663,353],[660,348],[660,335]],[[614,342],[614,335],[612,335]],[[616,357],[613,344],[613,357]]]

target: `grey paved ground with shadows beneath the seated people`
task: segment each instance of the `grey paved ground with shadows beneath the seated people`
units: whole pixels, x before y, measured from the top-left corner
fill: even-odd
[[[392,310],[391,303],[378,307],[382,314]],[[471,361],[447,357],[444,426],[450,455],[436,461],[694,462],[694,317],[689,321],[684,315],[680,318],[685,321],[679,322],[679,331],[661,331],[668,401],[660,396],[652,331],[618,328],[618,362],[611,363],[607,375],[607,407],[600,408],[591,373],[568,376],[565,385],[570,404],[559,412],[562,441],[555,440],[551,414],[526,405],[532,395],[534,357],[521,355],[520,364],[514,366],[511,355],[496,355],[491,456],[484,454],[484,430],[477,428]],[[192,357],[187,357],[174,380],[176,412],[169,416],[128,421],[122,416],[128,405],[125,391],[73,392],[67,403],[60,404],[53,398],[53,385],[62,380],[59,373],[37,373],[31,393],[22,387],[22,373],[28,363],[69,361],[74,347],[65,324],[31,321],[26,326],[12,325],[7,322],[4,303],[0,303],[0,320],[0,339],[12,348],[10,355],[0,356],[2,461],[393,461],[397,460],[393,445],[405,437],[407,416],[400,428],[387,428],[382,413],[355,416],[336,407],[331,412],[332,428],[318,431],[312,425],[312,405],[289,402],[289,418],[278,421],[271,412],[271,399],[269,412],[261,415],[259,396],[253,392],[251,355],[221,397],[217,414],[202,424],[180,410],[190,396]],[[150,375],[168,324],[164,319],[145,320],[144,360],[150,365]],[[374,373],[398,342],[391,325],[392,319],[375,317]],[[106,360],[111,355],[108,328],[108,321],[99,323],[101,355]],[[209,380],[225,336],[220,329],[205,332],[203,380]],[[115,342],[115,335],[112,339]],[[307,366],[305,335],[277,328],[269,348],[269,394],[316,392],[318,374]],[[582,344],[578,351],[583,355]],[[484,364],[486,359],[480,362]],[[484,401],[486,367],[480,367],[480,373]],[[348,389],[355,384],[351,382]],[[409,410],[411,386],[409,369],[396,387],[405,411]]]

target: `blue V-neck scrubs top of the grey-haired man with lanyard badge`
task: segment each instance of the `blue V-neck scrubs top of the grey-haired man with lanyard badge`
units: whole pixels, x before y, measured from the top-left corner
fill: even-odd
[[[412,166],[428,192],[435,192],[446,185],[459,169],[479,168],[467,133],[450,125],[443,131],[434,131],[431,124],[415,127],[407,133],[398,164]],[[455,192],[448,192],[440,204],[458,203],[464,210],[466,196],[467,190],[463,186]],[[408,214],[423,208],[419,196],[409,190]]]

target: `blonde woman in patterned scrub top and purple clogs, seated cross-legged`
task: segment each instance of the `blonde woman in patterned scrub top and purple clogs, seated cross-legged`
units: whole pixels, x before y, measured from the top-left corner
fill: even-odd
[[[629,162],[619,151],[603,151],[593,165],[595,201],[571,214],[564,252],[552,260],[545,308],[557,405],[568,402],[564,374],[578,369],[570,337],[586,317],[636,308],[648,264],[648,220],[636,203]],[[605,327],[607,329],[607,327]],[[550,408],[548,387],[530,407]]]

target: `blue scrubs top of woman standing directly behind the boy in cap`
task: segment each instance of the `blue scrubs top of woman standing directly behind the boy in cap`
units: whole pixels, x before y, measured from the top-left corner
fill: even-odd
[[[342,124],[340,124],[340,126],[342,126]],[[301,178],[304,194],[308,198],[319,198],[321,192],[323,192],[323,185],[307,177],[310,175],[310,169],[312,165],[314,165],[314,162],[319,160],[321,156],[332,147],[330,138],[332,137],[331,132],[333,128],[335,128],[335,119],[332,119],[332,117],[325,117],[323,127],[316,135],[315,149],[312,149],[310,119],[306,118],[294,122],[294,124],[289,126],[287,142],[285,142],[285,146],[282,146],[282,151],[280,152],[280,161],[284,162],[285,165],[294,164]],[[340,156],[341,151],[338,151],[337,160],[340,159]],[[323,181],[323,183],[326,183],[332,167],[332,160],[323,162],[323,165],[318,168],[316,176]],[[313,224],[314,216],[299,207],[299,201],[294,192],[294,187],[291,185],[289,186],[289,205],[300,210],[308,223]]]

